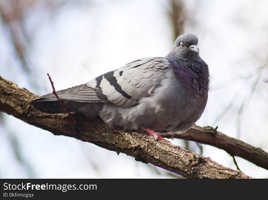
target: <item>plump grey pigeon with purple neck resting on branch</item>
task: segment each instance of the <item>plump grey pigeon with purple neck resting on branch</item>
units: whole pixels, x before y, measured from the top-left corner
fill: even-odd
[[[145,131],[156,139],[183,133],[206,107],[209,68],[199,56],[198,38],[180,35],[165,57],[132,61],[86,84],[57,91],[69,112],[100,117],[109,126]],[[53,93],[31,104],[45,113],[64,113]]]

